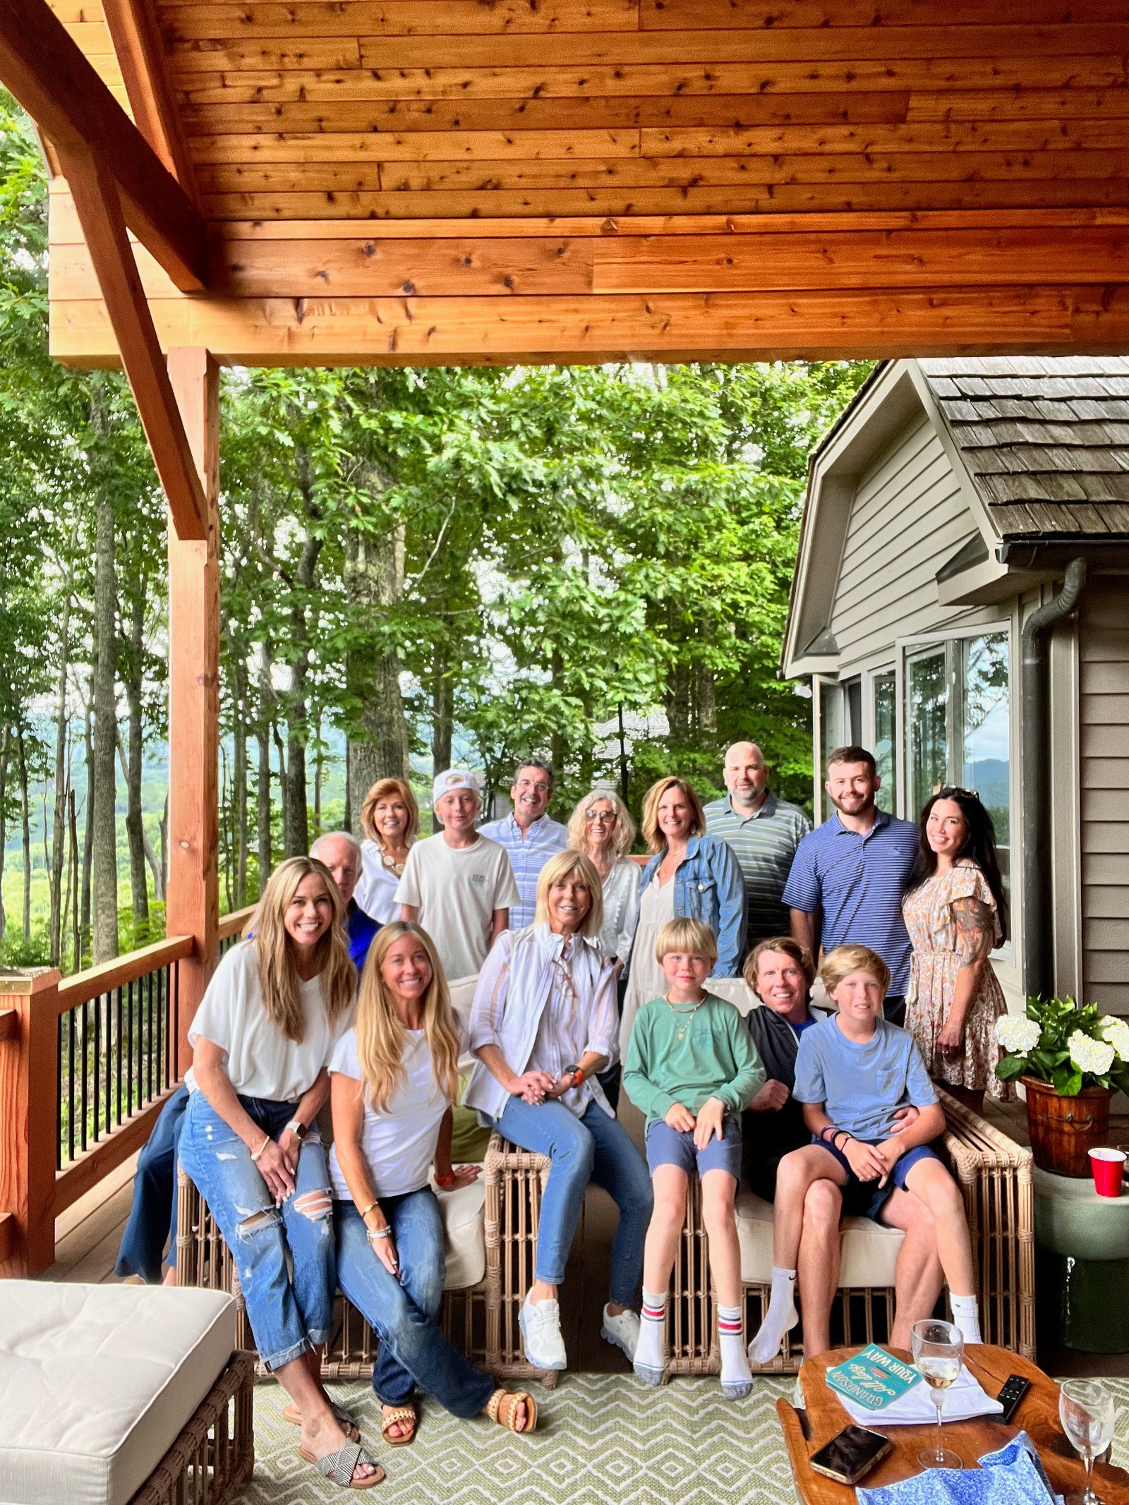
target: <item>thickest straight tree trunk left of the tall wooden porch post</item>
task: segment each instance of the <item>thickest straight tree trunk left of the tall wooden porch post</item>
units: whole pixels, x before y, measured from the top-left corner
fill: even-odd
[[[117,956],[117,582],[114,512],[107,489],[98,497],[95,533],[95,626],[98,670],[93,683],[93,963]]]

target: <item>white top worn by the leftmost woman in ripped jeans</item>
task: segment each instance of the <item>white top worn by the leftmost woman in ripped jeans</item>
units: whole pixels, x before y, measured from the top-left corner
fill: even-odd
[[[301,1040],[289,1040],[266,1017],[259,989],[259,957],[254,941],[233,945],[212,974],[200,999],[188,1044],[211,1040],[223,1050],[223,1066],[242,1097],[265,1097],[272,1103],[297,1103],[328,1066],[334,1043],[352,1023],[352,1005],[330,1023],[322,1002],[322,978],[298,984],[306,1017]],[[190,1084],[196,1090],[196,1081]]]

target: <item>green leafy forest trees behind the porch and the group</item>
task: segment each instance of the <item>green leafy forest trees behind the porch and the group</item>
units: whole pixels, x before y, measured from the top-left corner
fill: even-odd
[[[45,208],[0,96],[0,959],[71,968],[160,933],[166,513],[122,376],[48,357]],[[781,632],[807,458],[866,370],[224,372],[224,903],[375,777],[456,756],[489,792],[551,759],[564,814],[596,778],[715,792],[751,736],[810,801]]]

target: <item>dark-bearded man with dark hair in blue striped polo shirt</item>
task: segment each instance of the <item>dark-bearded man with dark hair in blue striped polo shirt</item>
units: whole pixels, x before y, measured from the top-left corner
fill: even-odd
[[[918,831],[875,805],[881,778],[866,748],[835,748],[823,789],[835,813],[796,847],[783,903],[792,935],[811,956],[819,948],[869,945],[890,968],[885,1017],[903,1025],[909,986],[909,933],[902,897]]]

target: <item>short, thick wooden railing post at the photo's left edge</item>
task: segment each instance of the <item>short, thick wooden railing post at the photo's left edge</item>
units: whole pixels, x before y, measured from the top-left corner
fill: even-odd
[[[59,972],[0,977],[0,1004],[18,1019],[0,1043],[0,1276],[42,1275],[54,1264]]]

